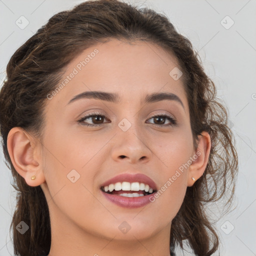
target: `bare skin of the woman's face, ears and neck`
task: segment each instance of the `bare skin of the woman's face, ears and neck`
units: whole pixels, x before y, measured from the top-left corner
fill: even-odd
[[[191,177],[196,180],[205,170],[209,135],[202,132],[197,148],[193,147],[182,80],[169,75],[177,62],[153,43],[111,39],[96,44],[76,56],[63,77],[95,48],[99,51],[95,57],[47,101],[42,143],[20,127],[10,130],[7,146],[11,161],[26,183],[40,185],[46,196],[51,219],[49,255],[168,256],[171,220],[186,187],[194,183]],[[121,100],[83,98],[67,104],[75,95],[90,90],[118,92]],[[184,107],[175,100],[140,103],[153,92],[174,93]],[[77,122],[93,110],[106,115],[105,124],[89,127]],[[152,118],[165,113],[175,117],[177,124],[166,125],[170,123],[167,118],[159,124]],[[131,123],[126,131],[118,126],[123,118]],[[91,118],[84,122],[93,124]],[[143,173],[160,189],[196,151],[200,156],[144,207],[120,207],[99,190],[105,180],[124,172]],[[74,183],[66,177],[72,169],[80,175]],[[127,233],[118,228],[123,221],[131,227]]]

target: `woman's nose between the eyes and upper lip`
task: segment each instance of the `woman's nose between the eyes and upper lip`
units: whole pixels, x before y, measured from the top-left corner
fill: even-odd
[[[140,163],[147,162],[151,155],[145,134],[136,125],[132,124],[126,131],[116,128],[111,148],[113,160]]]

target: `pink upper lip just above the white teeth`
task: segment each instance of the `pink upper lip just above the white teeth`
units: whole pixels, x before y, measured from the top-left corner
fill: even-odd
[[[153,190],[157,190],[155,182],[149,178],[148,176],[142,174],[142,173],[122,173],[119,175],[114,176],[113,178],[110,178],[106,180],[104,183],[100,185],[102,186],[107,186],[109,184],[114,184],[116,182],[141,182],[144,184],[148,184],[149,187],[151,187]]]

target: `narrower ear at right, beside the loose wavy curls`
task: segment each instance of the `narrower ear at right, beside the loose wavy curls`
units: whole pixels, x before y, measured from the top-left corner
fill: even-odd
[[[210,153],[210,135],[208,132],[203,131],[198,136],[197,148],[190,159],[192,163],[189,165],[187,172],[187,186],[192,186],[193,183],[203,174],[208,163]],[[193,180],[192,177],[195,179]]]

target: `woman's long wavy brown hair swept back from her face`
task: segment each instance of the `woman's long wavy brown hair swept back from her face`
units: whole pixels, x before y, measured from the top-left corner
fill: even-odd
[[[82,50],[107,39],[144,40],[160,45],[178,60],[189,104],[194,141],[200,132],[211,138],[203,175],[187,187],[182,205],[172,219],[170,247],[187,241],[195,255],[212,255],[219,238],[204,207],[226,196],[232,201],[237,174],[237,153],[227,125],[227,112],[216,98],[214,83],[203,71],[190,41],[179,34],[168,18],[152,9],[118,0],[91,0],[53,15],[10,58],[0,91],[0,132],[6,164],[17,190],[17,204],[10,228],[15,255],[46,255],[50,249],[48,205],[40,186],[29,186],[14,169],[7,151],[7,135],[19,126],[41,138],[43,108],[61,79],[66,65]],[[20,234],[15,226],[23,220],[29,229]]]

